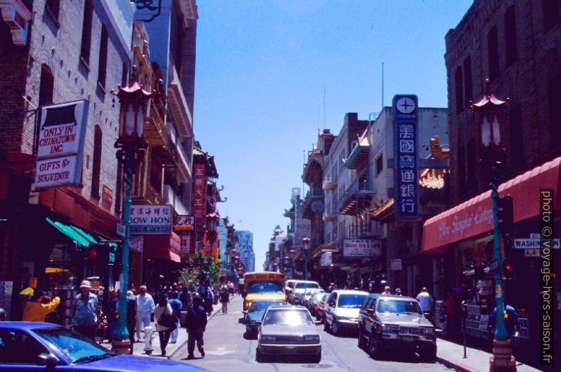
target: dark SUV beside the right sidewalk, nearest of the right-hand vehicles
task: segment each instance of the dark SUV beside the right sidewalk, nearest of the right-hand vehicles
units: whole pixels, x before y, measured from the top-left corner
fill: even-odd
[[[375,358],[386,349],[418,352],[421,359],[437,356],[435,327],[413,297],[369,294],[359,312],[358,344]]]

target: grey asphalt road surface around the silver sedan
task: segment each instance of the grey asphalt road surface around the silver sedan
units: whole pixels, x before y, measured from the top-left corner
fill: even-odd
[[[220,305],[219,305],[220,307]],[[319,364],[311,364],[305,359],[279,357],[269,359],[265,363],[255,361],[256,340],[244,339],[244,325],[238,324],[237,319],[242,316],[242,300],[235,296],[230,302],[227,315],[217,313],[208,323],[204,335],[205,353],[201,359],[195,349],[197,359],[187,361],[187,344],[180,347],[172,355],[172,359],[187,361],[207,368],[210,371],[248,372],[248,371],[310,371],[325,369],[328,371],[364,372],[364,371],[451,371],[437,363],[420,363],[418,356],[406,356],[396,353],[382,361],[372,359],[366,352],[357,347],[357,340],[353,335],[335,337],[324,332],[323,326],[318,325],[321,334],[322,357]],[[215,306],[216,308],[216,306]],[[182,329],[184,332],[184,329]]]

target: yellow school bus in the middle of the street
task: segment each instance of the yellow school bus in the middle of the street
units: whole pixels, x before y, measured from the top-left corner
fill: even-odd
[[[247,272],[244,274],[244,310],[255,299],[273,299],[286,302],[286,275],[280,272],[263,271]]]

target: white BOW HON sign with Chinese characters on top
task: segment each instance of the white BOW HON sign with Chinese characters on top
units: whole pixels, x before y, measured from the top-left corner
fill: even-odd
[[[132,205],[131,234],[171,234],[171,205]]]

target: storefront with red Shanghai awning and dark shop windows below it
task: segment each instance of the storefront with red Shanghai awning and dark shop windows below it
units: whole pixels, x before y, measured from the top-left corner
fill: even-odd
[[[539,247],[540,189],[553,189],[553,209],[559,213],[560,164],[561,158],[557,158],[498,188],[500,196],[510,195],[513,199],[514,239],[507,246],[501,241],[501,248],[503,265],[508,263],[507,270],[503,268],[504,298],[521,318],[521,332],[515,337],[515,344],[536,341],[538,337],[540,259],[539,248],[536,251],[535,247],[536,242]],[[555,237],[561,236],[559,214],[554,218]],[[446,294],[451,293],[457,301],[465,300],[468,303],[466,334],[483,339],[491,337],[488,318],[495,308],[497,263],[493,256],[492,224],[488,191],[427,220],[420,251],[421,256],[432,259],[433,280],[439,286],[434,290],[436,299],[446,299]],[[554,259],[559,259],[560,251],[554,249]],[[449,264],[451,258],[453,265]],[[555,284],[557,287],[558,279]],[[558,306],[555,304],[555,308]]]

